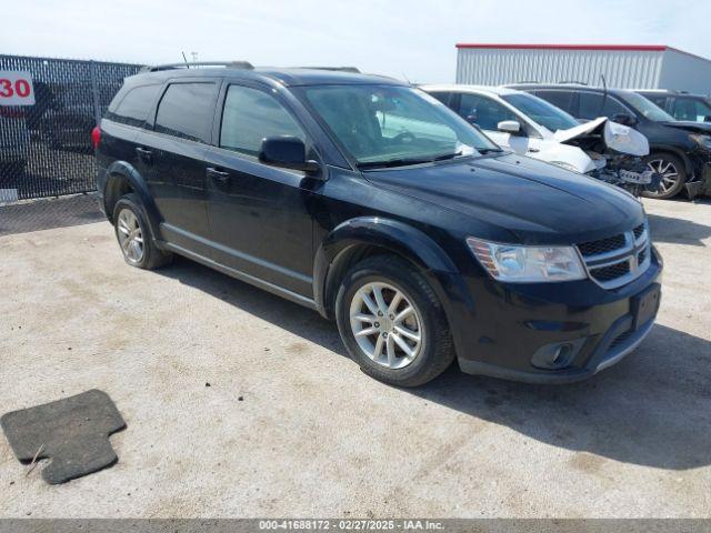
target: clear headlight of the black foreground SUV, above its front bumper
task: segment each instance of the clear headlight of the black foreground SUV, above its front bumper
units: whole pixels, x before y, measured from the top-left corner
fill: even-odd
[[[517,247],[470,237],[467,244],[499,281],[538,283],[584,280],[588,275],[572,247]]]

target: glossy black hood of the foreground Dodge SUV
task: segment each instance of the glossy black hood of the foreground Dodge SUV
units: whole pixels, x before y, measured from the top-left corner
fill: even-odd
[[[644,219],[640,203],[618,188],[511,153],[364,175],[383,189],[471,217],[478,227],[507,230],[522,243],[572,244]]]

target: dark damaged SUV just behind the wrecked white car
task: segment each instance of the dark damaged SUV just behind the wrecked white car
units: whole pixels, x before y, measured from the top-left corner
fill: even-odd
[[[652,198],[672,198],[687,190],[690,198],[711,194],[711,123],[681,122],[634,91],[575,84],[522,83],[528,91],[580,120],[608,117],[649,139],[647,164],[661,174]]]

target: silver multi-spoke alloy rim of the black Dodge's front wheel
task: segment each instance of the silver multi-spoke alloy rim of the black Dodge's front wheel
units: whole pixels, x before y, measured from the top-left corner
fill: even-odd
[[[423,350],[420,311],[400,289],[384,282],[361,286],[351,301],[350,325],[368,358],[388,369],[402,369]]]

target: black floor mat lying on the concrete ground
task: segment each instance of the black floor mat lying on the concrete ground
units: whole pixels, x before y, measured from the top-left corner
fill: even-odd
[[[22,409],[0,418],[0,425],[22,463],[50,459],[42,477],[51,484],[97,472],[118,461],[109,435],[126,428],[106,392]]]

